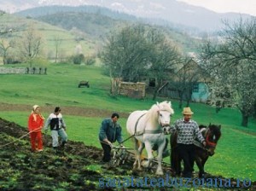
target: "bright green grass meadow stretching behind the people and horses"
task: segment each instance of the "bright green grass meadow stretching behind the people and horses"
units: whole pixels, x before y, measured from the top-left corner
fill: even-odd
[[[25,65],[24,65],[25,66]],[[12,66],[9,66],[12,67]],[[20,67],[15,66],[15,67]],[[80,80],[88,80],[90,88],[78,88]],[[137,109],[148,109],[155,101],[151,96],[145,100],[132,100],[124,96],[109,96],[110,79],[102,74],[102,68],[93,66],[75,66],[68,64],[52,64],[48,67],[47,75],[31,74],[1,74],[0,102],[31,106],[38,104],[42,107],[51,104],[53,107],[84,107],[102,108],[109,111],[129,113]],[[163,101],[159,98],[157,101]],[[172,101],[175,110],[172,121],[182,117],[177,101]],[[31,111],[1,111],[0,117],[14,121],[26,127],[26,120]],[[215,155],[207,161],[206,171],[223,177],[248,177],[256,180],[256,121],[251,119],[247,128],[241,127],[241,114],[234,108],[224,108],[218,114],[214,107],[205,104],[192,103],[195,112],[194,119],[199,124],[221,124],[222,136],[218,142]],[[100,148],[98,140],[99,125],[104,117],[81,117],[62,113],[67,122],[67,134],[71,140],[84,142]],[[124,137],[125,118],[119,119],[123,127]],[[125,142],[131,147],[131,140]],[[169,163],[169,159],[165,159]]]

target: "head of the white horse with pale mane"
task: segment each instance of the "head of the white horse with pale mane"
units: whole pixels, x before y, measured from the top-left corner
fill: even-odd
[[[169,134],[171,132],[171,117],[174,113],[172,109],[171,101],[163,101],[163,102],[156,102],[157,106],[157,113],[158,113],[158,123],[165,134]]]

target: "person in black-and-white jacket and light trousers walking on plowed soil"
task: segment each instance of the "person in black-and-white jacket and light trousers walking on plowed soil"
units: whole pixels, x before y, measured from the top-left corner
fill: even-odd
[[[48,127],[50,127],[51,130],[52,147],[55,153],[57,153],[59,149],[64,149],[67,143],[67,125],[61,114],[61,107],[55,107],[54,113],[49,114],[44,124],[45,133],[47,133]],[[61,144],[59,144],[59,136],[61,137]]]

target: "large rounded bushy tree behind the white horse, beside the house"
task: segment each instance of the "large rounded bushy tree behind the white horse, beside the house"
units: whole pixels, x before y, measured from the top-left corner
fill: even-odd
[[[177,49],[164,32],[142,24],[112,32],[101,52],[111,78],[122,78],[128,82],[155,78],[157,85],[153,99],[169,78],[168,72],[177,63],[177,57]]]

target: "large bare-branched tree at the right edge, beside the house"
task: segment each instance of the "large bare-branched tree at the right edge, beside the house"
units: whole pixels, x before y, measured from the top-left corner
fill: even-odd
[[[256,102],[256,19],[224,24],[220,42],[204,43],[201,61],[215,78],[215,88],[230,91],[233,105],[241,112],[241,125],[247,126]]]

